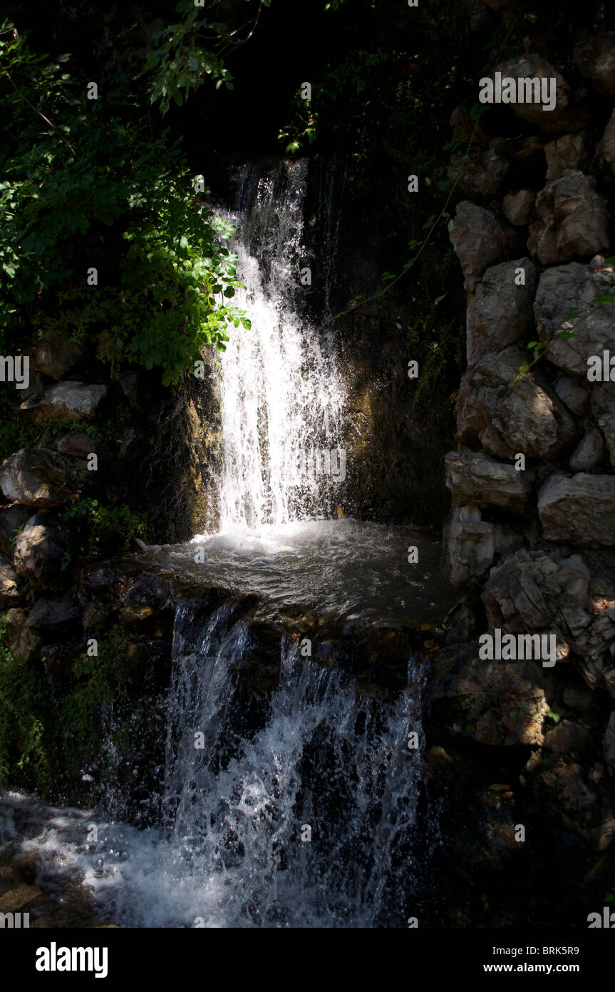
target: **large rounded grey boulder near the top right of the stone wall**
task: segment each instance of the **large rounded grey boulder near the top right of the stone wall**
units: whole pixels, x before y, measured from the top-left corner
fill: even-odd
[[[538,220],[530,228],[528,251],[543,265],[595,255],[609,244],[607,202],[593,179],[565,170],[536,197]]]

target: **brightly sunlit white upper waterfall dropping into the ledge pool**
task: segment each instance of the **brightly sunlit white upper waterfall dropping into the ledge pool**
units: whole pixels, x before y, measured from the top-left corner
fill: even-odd
[[[233,250],[246,290],[234,303],[252,328],[232,331],[221,358],[223,532],[329,518],[345,476],[333,343],[299,312],[309,293],[302,278],[318,278],[302,265],[307,168],[306,160],[265,161],[240,177]]]

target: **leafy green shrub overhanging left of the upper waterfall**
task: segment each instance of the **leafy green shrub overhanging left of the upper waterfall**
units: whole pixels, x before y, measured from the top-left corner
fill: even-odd
[[[35,55],[26,34],[0,34],[0,335],[90,341],[112,372],[138,362],[176,383],[204,345],[250,325],[231,304],[232,227],[137,96],[103,79],[105,98],[88,100],[68,56]]]

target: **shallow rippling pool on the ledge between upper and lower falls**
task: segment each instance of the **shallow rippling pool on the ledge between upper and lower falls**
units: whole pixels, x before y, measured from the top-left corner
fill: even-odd
[[[416,555],[409,553],[413,548]],[[146,559],[204,585],[256,593],[271,612],[409,625],[441,621],[459,598],[440,573],[441,557],[431,535],[352,518],[237,526],[145,552]]]

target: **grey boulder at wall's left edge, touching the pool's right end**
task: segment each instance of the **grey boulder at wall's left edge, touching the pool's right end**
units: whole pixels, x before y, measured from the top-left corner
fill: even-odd
[[[522,544],[523,539],[511,528],[482,520],[477,506],[456,506],[444,528],[443,571],[452,585],[467,585],[485,574],[496,555],[508,554]]]

